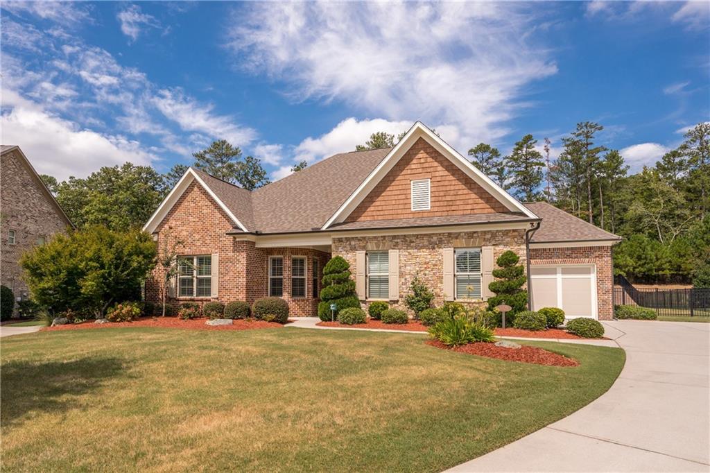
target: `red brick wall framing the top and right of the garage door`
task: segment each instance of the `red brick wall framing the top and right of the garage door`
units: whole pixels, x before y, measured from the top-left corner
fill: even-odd
[[[566,248],[531,248],[530,264],[596,265],[596,297],[599,320],[613,318],[613,270],[611,246],[570,246]]]

